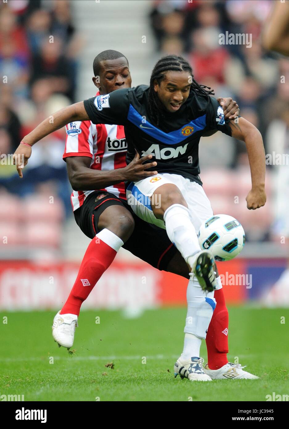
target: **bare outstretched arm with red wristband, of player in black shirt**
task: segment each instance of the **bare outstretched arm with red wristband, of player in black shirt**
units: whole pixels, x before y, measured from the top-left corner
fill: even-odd
[[[58,112],[46,118],[41,124],[37,125],[31,133],[22,139],[20,145],[16,149],[13,159],[16,165],[18,174],[23,177],[22,169],[27,164],[28,159],[31,156],[31,146],[36,142],[53,133],[56,130],[64,127],[66,124],[72,121],[87,121],[88,115],[84,109],[84,103],[72,104],[64,109],[58,110]]]

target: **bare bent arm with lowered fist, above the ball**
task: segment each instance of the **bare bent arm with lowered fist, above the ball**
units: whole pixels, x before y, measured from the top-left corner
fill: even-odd
[[[265,193],[265,150],[263,139],[259,130],[244,118],[238,123],[229,123],[232,137],[242,140],[246,144],[252,179],[252,189],[247,195],[247,208],[255,210],[266,202]]]

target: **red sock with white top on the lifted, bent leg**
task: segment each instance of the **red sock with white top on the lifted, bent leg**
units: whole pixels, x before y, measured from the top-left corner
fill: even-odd
[[[109,231],[109,233],[111,232]],[[115,237],[120,240],[117,236]],[[93,287],[97,281],[99,281],[102,274],[108,269],[116,254],[117,251],[97,236],[96,239],[93,239],[90,242],[81,262],[75,284],[73,285],[69,297],[63,305],[60,314],[71,313],[79,315],[82,302],[87,299],[87,296],[93,290]]]

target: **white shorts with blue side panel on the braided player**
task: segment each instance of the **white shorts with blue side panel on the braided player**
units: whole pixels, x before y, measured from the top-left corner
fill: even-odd
[[[157,219],[151,208],[151,198],[154,198],[156,206],[160,205],[159,195],[157,193],[153,195],[153,193],[166,183],[175,184],[181,191],[187,202],[196,233],[199,233],[202,223],[213,216],[210,201],[199,183],[178,174],[160,173],[138,182],[131,182],[126,190],[126,198],[135,215],[143,221],[166,229],[164,221]]]

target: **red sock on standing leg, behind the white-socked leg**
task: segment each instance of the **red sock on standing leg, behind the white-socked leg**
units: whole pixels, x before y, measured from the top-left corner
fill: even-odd
[[[226,308],[223,288],[215,290],[214,298],[217,301],[211,319],[206,344],[208,350],[208,366],[210,369],[219,369],[228,363],[228,325],[229,313]]]

